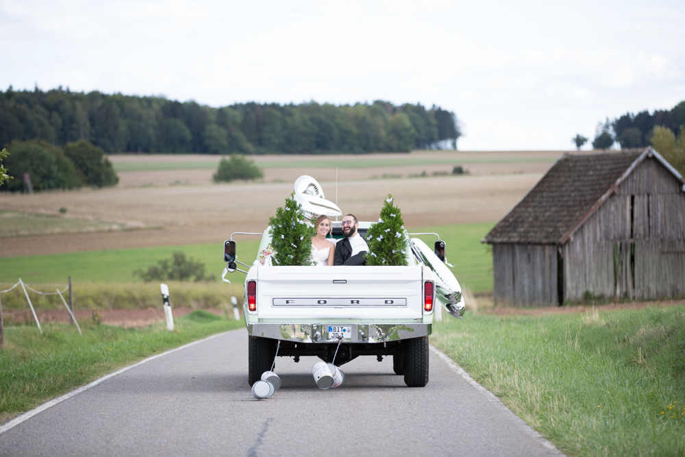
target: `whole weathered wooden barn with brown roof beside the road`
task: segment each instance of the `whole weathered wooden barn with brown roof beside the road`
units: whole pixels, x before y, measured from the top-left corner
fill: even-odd
[[[685,184],[653,149],[564,153],[484,238],[495,303],[685,296]]]

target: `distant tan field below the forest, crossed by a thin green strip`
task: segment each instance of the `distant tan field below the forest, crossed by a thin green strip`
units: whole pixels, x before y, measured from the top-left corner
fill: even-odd
[[[264,182],[294,182],[301,175],[320,181],[381,179],[451,173],[461,165],[472,175],[544,173],[561,151],[413,151],[364,155],[250,156],[264,168]],[[119,186],[210,184],[220,156],[117,154],[110,156]]]

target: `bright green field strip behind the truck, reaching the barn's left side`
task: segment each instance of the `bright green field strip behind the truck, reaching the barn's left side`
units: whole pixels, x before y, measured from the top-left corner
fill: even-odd
[[[439,227],[415,227],[410,232],[437,232],[447,243],[447,260],[455,265],[452,269],[462,286],[473,292],[490,291],[493,288],[492,254],[480,240],[493,227],[493,223],[443,225]],[[434,236],[421,236],[429,246]],[[255,238],[236,238],[238,260],[252,264],[257,256],[259,241]],[[21,277],[33,284],[65,284],[71,275],[75,282],[140,282],[133,272],[147,269],[159,260],[170,258],[173,251],[203,262],[208,274],[219,280],[225,267],[223,240],[199,245],[142,247],[137,249],[111,249],[84,251],[45,256],[3,258],[0,262],[0,282],[14,284]],[[243,267],[241,267],[243,269]],[[245,281],[245,275],[236,272],[227,275],[236,284]]]

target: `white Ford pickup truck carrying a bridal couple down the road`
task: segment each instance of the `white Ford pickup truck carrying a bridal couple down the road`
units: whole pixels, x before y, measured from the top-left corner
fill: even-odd
[[[340,222],[333,238],[343,238]],[[369,222],[359,223],[366,237]],[[236,243],[225,242],[227,272],[236,271]],[[261,235],[261,234],[253,234]],[[408,237],[406,231],[404,236]],[[245,324],[249,333],[249,384],[271,369],[278,356],[316,356],[335,365],[359,356],[393,356],[393,369],[408,386],[428,382],[428,336],[435,306],[462,317],[459,283],[445,267],[445,243],[429,249],[411,238],[406,267],[249,266],[245,280]],[[271,243],[269,228],[260,251]],[[242,271],[242,270],[238,270]]]

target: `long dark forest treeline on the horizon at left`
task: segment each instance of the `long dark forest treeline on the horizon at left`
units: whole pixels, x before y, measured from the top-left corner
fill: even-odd
[[[453,112],[411,103],[212,108],[61,87],[0,92],[0,145],[88,140],[106,153],[366,153],[456,149],[460,136]]]

